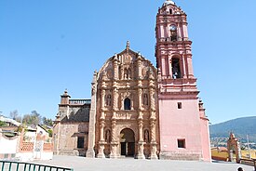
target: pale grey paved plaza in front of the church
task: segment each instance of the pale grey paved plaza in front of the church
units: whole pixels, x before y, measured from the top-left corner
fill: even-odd
[[[74,171],[236,171],[239,166],[243,167],[244,171],[254,170],[249,165],[222,162],[209,164],[204,162],[135,160],[132,158],[88,159],[74,156],[54,156],[51,161],[35,161],[34,163],[73,167]]]

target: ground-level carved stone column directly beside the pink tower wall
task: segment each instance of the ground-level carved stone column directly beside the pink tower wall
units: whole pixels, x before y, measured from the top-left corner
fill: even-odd
[[[157,148],[156,148],[156,139],[155,139],[155,120],[151,120],[150,121],[150,127],[151,127],[151,156],[150,158],[152,160],[155,160],[155,159],[158,159],[157,157],[157,154],[156,154],[156,151],[157,151]]]

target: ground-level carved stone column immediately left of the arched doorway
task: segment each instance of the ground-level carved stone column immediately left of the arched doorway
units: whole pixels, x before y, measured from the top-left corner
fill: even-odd
[[[117,145],[118,142],[116,141],[116,121],[115,118],[112,120],[112,140],[111,140],[111,153],[110,158],[117,158]]]

